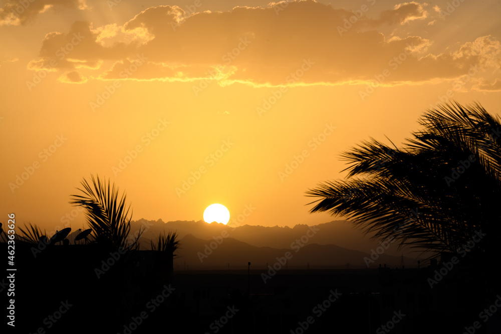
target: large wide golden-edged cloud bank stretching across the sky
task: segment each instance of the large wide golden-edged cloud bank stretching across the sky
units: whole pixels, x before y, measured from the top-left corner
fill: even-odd
[[[382,13],[378,25],[424,19],[424,6],[397,5]],[[56,59],[54,70],[85,67],[96,71],[94,78],[116,80],[144,55],[147,61],[128,79],[278,86],[363,84],[385,70],[391,74],[385,85],[436,82],[458,78],[470,66],[495,70],[501,64],[499,41],[491,36],[430,54],[433,41],[410,34],[387,39],[363,20],[340,35],[338,27],[352,15],[314,1],[290,2],[278,15],[272,7],[189,16],[176,6],[151,7],[122,27],[76,22],[68,33],[50,33],[29,67],[47,68]],[[84,38],[68,51],[75,36]],[[61,48],[68,51],[62,59]],[[305,62],[312,64],[308,71]]]

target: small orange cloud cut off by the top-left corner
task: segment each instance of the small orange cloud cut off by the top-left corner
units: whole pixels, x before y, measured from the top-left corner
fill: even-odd
[[[5,0],[0,8],[0,26],[24,25],[49,9],[87,9],[85,0]]]

